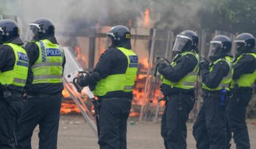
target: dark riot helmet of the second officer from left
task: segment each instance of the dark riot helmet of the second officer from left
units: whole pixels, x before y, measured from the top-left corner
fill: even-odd
[[[29,23],[29,29],[32,33],[27,34],[32,40],[44,40],[50,36],[55,36],[55,27],[48,19],[36,19]],[[30,39],[31,40],[31,39]]]

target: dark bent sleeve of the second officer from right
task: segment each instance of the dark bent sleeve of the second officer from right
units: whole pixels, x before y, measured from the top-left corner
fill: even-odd
[[[229,64],[225,61],[220,61],[213,66],[211,72],[207,68],[203,68],[200,71],[203,83],[210,88],[216,88],[222,79],[229,74]]]

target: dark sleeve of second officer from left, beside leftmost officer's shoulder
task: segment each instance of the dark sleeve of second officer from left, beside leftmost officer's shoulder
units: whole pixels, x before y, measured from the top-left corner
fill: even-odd
[[[34,42],[27,43],[25,50],[27,51],[27,56],[29,56],[29,63],[31,63],[31,66],[34,65],[39,57],[38,45]]]

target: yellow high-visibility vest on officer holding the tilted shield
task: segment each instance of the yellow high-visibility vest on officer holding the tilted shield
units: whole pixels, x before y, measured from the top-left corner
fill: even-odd
[[[96,89],[94,90],[94,95],[104,96],[110,91],[133,91],[134,81],[137,73],[138,67],[138,56],[123,47],[118,47],[118,50],[122,51],[127,57],[128,65],[126,72],[124,74],[109,75],[97,82]]]

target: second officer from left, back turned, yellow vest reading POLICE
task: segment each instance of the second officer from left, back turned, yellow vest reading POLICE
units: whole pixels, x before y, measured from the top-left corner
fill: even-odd
[[[47,19],[29,24],[32,41],[25,49],[34,79],[18,120],[17,148],[31,148],[34,128],[39,124],[39,148],[57,148],[58,121],[62,101],[64,51],[55,38],[55,27]]]

